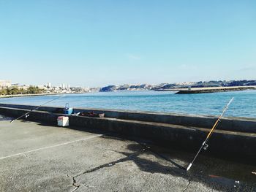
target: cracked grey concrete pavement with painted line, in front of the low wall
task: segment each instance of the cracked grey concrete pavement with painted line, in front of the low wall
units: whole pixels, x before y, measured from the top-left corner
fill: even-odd
[[[197,149],[195,149],[196,151]],[[256,167],[91,129],[0,118],[0,191],[256,191]]]

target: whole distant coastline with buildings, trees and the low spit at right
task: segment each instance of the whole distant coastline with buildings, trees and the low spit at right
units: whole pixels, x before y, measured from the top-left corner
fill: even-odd
[[[52,87],[44,85],[39,86],[17,86],[10,85],[0,87],[0,99],[21,96],[48,96],[60,94],[76,94],[89,92],[116,92],[116,91],[175,91],[182,93],[215,93],[225,91],[243,91],[246,89],[255,90],[256,80],[211,80],[199,82],[179,82],[179,83],[160,83],[158,85],[140,84],[140,85],[108,85],[102,88],[78,88],[78,87]]]

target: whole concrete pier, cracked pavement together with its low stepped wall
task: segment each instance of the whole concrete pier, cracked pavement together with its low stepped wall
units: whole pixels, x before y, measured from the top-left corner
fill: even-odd
[[[0,114],[34,108],[0,104]],[[256,191],[255,119],[223,119],[187,172],[216,117],[75,109],[106,117],[70,115],[62,128],[61,110],[0,115],[0,191]]]

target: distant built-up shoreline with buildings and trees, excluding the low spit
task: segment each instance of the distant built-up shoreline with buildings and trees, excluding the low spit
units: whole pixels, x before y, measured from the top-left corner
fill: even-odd
[[[199,82],[178,82],[160,83],[158,85],[108,85],[102,88],[72,87],[69,83],[61,83],[59,86],[47,82],[45,85],[21,85],[12,84],[10,80],[0,80],[0,95],[26,94],[26,93],[88,93],[88,92],[108,92],[108,91],[167,91],[178,88],[214,88],[233,86],[256,86],[256,80],[219,80],[219,81],[199,81]]]

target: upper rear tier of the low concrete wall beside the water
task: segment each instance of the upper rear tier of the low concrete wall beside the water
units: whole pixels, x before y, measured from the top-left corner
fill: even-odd
[[[21,105],[21,104],[0,104],[0,107],[12,107],[32,110],[37,106]],[[63,107],[40,107],[41,111],[56,112],[61,111]],[[105,113],[107,118],[118,118],[124,120],[139,120],[154,123],[169,123],[181,126],[195,126],[201,128],[211,128],[217,117],[202,115],[182,115],[174,113],[160,112],[138,112],[125,110],[99,110],[88,108],[76,108],[75,112],[97,112]],[[256,119],[251,118],[222,118],[218,129],[227,131],[240,131],[256,133]]]

